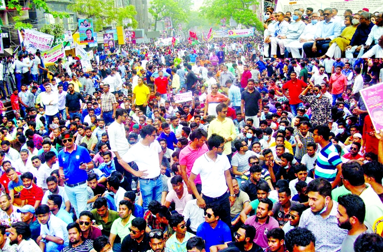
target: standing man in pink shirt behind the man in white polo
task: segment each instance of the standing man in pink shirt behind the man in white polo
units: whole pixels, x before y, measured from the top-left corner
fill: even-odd
[[[190,142],[180,152],[179,162],[181,168],[181,176],[187,186],[187,191],[192,194],[192,188],[190,188],[188,180],[190,173],[196,159],[205,154],[209,149],[207,148],[206,139],[207,132],[203,129],[196,129],[189,135]],[[197,190],[201,192],[201,178],[200,175],[194,180]]]

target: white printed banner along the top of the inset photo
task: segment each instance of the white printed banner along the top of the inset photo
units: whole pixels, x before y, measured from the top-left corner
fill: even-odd
[[[324,10],[325,8],[336,8],[338,9],[338,16],[343,17],[343,13],[346,9],[350,9],[354,13],[358,10],[362,10],[363,8],[369,9],[371,13],[376,11],[381,12],[383,11],[383,0],[278,0],[276,12],[280,11],[286,13],[286,11],[290,11],[291,13],[294,13],[294,10],[298,10],[299,8],[303,8],[305,10],[307,7],[311,7],[315,11],[319,9]]]

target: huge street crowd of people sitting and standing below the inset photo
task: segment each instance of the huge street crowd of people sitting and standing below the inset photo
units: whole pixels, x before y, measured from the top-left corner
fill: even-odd
[[[261,47],[7,58],[2,251],[382,251],[383,110],[359,94],[382,63]]]

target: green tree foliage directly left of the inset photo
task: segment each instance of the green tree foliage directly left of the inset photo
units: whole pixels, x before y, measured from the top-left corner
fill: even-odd
[[[253,6],[259,4],[258,0],[204,0],[200,15],[217,20],[217,24],[221,18],[232,17],[238,24],[262,31],[262,22],[253,11]]]

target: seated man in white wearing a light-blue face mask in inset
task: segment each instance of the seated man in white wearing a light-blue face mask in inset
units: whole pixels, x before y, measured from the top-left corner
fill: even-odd
[[[280,56],[283,57],[285,45],[289,44],[293,41],[297,41],[299,36],[303,33],[306,25],[302,21],[302,12],[301,11],[294,11],[294,15],[292,17],[293,17],[293,20],[295,22],[291,22],[291,24],[288,26],[288,29],[287,29],[285,35],[280,34],[276,37],[270,38],[270,40],[271,40],[271,57],[274,57],[274,55],[277,53],[277,50],[276,50],[277,44],[279,45]]]

